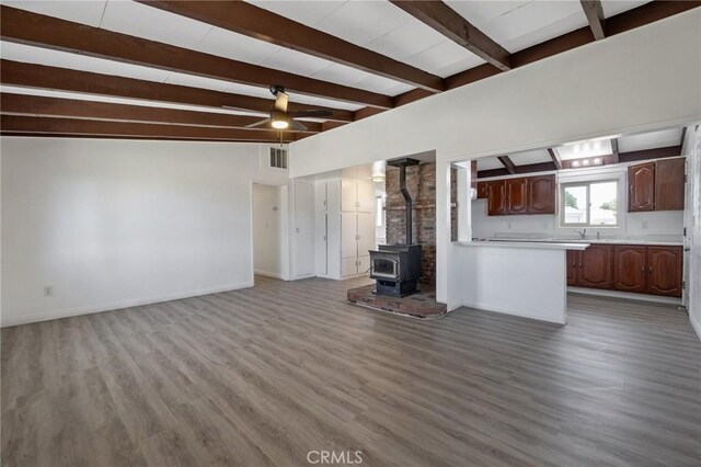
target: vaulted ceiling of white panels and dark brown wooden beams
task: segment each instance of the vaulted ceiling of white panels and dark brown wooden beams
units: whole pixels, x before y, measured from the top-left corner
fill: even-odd
[[[3,1],[3,135],[296,140],[700,1]],[[674,52],[670,52],[674,53]],[[281,84],[306,133],[248,128]]]

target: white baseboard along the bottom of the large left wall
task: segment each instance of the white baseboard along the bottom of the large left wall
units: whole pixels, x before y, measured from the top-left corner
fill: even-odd
[[[71,316],[90,315],[93,312],[118,310],[122,308],[137,307],[141,305],[158,304],[161,301],[177,300],[181,298],[196,297],[199,295],[218,294],[220,292],[238,291],[240,288],[253,287],[253,282],[243,282],[240,284],[222,285],[219,287],[199,288],[176,294],[159,295],[153,297],[134,298],[129,300],[113,301],[108,304],[91,305],[87,307],[68,308],[62,310],[45,311],[34,315],[26,315],[18,318],[0,319],[0,327],[9,328],[12,326],[30,324],[32,322],[48,321],[51,319],[68,318]]]

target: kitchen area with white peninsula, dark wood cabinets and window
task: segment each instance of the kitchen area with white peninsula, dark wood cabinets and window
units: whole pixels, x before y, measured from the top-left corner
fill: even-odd
[[[463,276],[473,280],[459,303],[558,323],[571,293],[683,306],[685,135],[667,128],[473,161],[471,237],[453,242],[469,247]]]

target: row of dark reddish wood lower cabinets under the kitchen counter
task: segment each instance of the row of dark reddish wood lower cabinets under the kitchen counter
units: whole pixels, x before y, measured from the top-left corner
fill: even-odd
[[[680,297],[681,247],[593,244],[567,251],[567,285]]]

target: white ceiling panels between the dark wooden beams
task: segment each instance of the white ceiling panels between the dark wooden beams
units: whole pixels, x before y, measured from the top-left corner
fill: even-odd
[[[484,62],[386,0],[250,2],[440,77]],[[448,0],[447,3],[510,52],[587,24],[578,1]],[[605,0],[602,3],[605,13],[610,16],[645,2]],[[413,89],[397,80],[286,49],[134,1],[3,0],[3,4],[387,95],[398,95]],[[10,60],[272,99],[266,87],[237,84],[77,54],[8,43],[0,43],[0,52],[2,58]],[[361,107],[296,93],[291,93],[290,100],[349,111]]]

